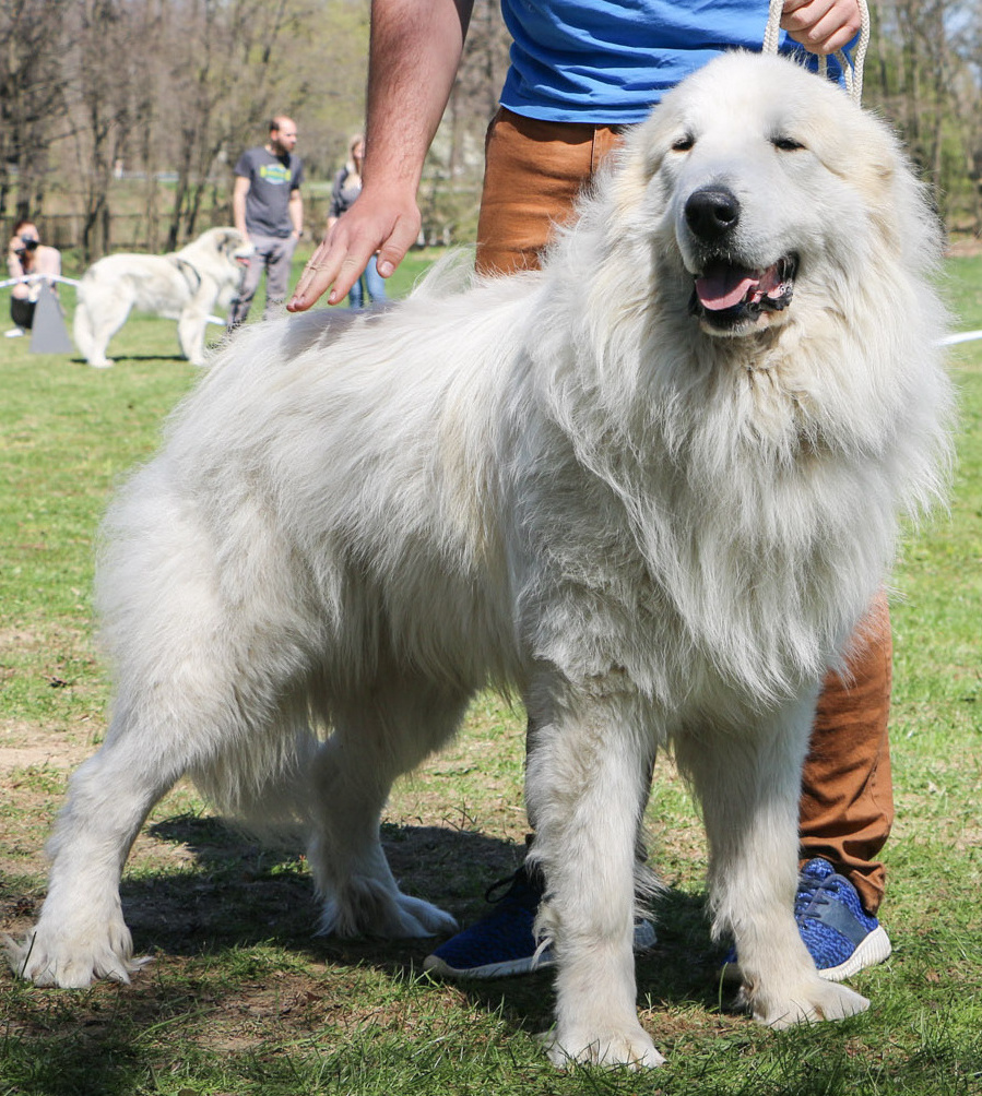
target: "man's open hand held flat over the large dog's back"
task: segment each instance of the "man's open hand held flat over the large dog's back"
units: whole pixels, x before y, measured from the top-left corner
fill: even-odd
[[[329,288],[328,304],[339,304],[376,251],[379,273],[390,277],[419,237],[421,224],[415,195],[376,194],[365,184],[304,267],[287,310],[305,311]]]

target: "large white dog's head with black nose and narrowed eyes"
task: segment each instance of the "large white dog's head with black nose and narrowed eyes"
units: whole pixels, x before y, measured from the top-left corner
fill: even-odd
[[[661,276],[684,283],[711,334],[787,322],[810,294],[838,307],[871,252],[936,249],[887,127],[785,58],[708,65],[637,127],[621,165],[622,208],[656,226]],[[916,215],[896,216],[898,202]],[[899,238],[912,220],[924,239]]]

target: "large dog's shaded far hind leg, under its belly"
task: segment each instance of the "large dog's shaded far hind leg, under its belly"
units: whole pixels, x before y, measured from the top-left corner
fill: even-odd
[[[320,933],[415,937],[455,931],[450,914],[399,890],[379,822],[395,778],[453,734],[466,701],[461,692],[394,674],[335,711],[335,733],[311,774],[309,860],[323,902]]]

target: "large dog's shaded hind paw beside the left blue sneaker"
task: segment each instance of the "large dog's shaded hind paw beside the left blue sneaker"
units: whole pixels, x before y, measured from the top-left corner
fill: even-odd
[[[414,939],[456,931],[456,921],[439,906],[362,876],[325,898],[317,935]]]

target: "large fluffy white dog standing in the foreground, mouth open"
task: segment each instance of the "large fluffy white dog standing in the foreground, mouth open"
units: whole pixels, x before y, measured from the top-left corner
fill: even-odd
[[[939,488],[939,255],[885,127],[725,56],[627,139],[541,273],[257,326],[105,526],[117,680],[52,840],[38,984],[126,980],[129,844],[190,773],[308,821],[321,928],[453,928],[396,886],[393,779],[492,683],[534,729],[554,1061],[655,1065],[635,836],[655,751],[702,801],[714,929],[774,1027],[867,1007],[792,916],[816,683]]]

